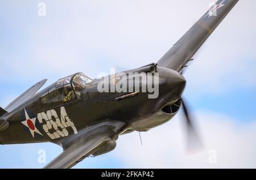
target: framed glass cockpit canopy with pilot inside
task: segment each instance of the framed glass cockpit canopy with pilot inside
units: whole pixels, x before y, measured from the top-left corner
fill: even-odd
[[[93,79],[82,73],[76,73],[66,78],[59,79],[56,82],[55,87],[49,89],[44,95],[41,96],[40,101],[43,104],[53,102],[69,102],[71,100],[77,100],[81,97],[81,91],[88,83]]]

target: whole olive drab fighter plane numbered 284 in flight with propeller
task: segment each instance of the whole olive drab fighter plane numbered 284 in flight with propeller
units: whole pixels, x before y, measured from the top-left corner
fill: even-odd
[[[76,73],[38,92],[47,81],[44,79],[0,108],[0,143],[55,143],[63,147],[63,153],[44,168],[72,168],[88,156],[112,151],[119,135],[160,126],[181,108],[188,125],[188,143],[199,147],[200,139],[181,97],[186,83],[182,74],[237,2],[217,1],[158,62],[122,72],[144,72],[147,78],[158,75],[155,98],[150,98],[152,92],[134,87],[127,92],[100,92],[99,84],[111,88],[125,80],[117,74],[94,79]],[[140,88],[142,85],[139,83]]]

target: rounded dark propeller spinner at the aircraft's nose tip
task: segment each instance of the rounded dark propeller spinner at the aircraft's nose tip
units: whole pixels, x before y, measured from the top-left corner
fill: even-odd
[[[165,85],[162,87],[164,97],[169,101],[179,100],[185,89],[185,78],[174,70],[163,68],[160,71],[162,72],[160,72],[161,77],[166,80]]]

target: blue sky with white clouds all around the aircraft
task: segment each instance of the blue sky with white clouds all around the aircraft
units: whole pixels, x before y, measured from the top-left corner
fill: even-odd
[[[44,2],[46,16],[39,16]],[[157,62],[208,10],[209,0],[0,1],[0,106],[31,85],[75,72],[97,77]],[[195,55],[184,98],[204,148],[187,153],[184,119],[119,136],[74,168],[256,168],[256,1],[238,2]],[[40,150],[46,162],[39,163]],[[51,143],[1,145],[0,168],[42,168]]]

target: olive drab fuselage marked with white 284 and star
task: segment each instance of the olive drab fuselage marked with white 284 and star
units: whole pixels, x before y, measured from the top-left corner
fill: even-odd
[[[9,128],[0,131],[1,143],[52,142],[60,144],[61,140],[68,136],[75,136],[80,130],[101,122],[118,121],[130,131],[147,131],[168,121],[172,115],[164,114],[168,120],[160,119],[159,122],[154,123],[149,122],[148,119],[150,116],[155,117],[155,113],[164,106],[179,100],[185,80],[177,72],[159,68],[156,65],[125,71],[125,73],[150,72],[151,67],[155,67],[159,73],[158,98],[150,99],[148,93],[137,93],[135,96],[117,100],[118,97],[129,93],[100,93],[98,83],[101,79],[94,79],[82,89],[80,97],[74,97],[69,101],[51,102],[49,100],[49,103],[46,103],[48,101],[46,95],[51,94],[49,93],[51,89],[56,89],[58,81],[6,115],[5,120],[9,122]],[[166,80],[167,77],[172,80]],[[56,97],[53,98],[56,99]],[[33,125],[30,120],[34,118],[36,119]],[[145,121],[149,124],[144,123],[143,119],[146,119]]]

